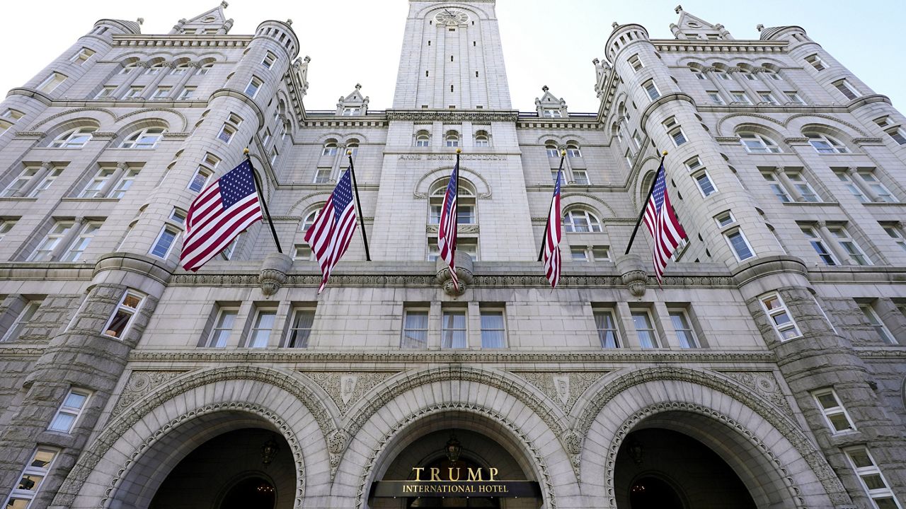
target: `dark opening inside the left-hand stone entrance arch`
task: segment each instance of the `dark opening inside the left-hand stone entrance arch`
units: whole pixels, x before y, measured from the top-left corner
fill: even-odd
[[[160,485],[150,509],[289,509],[295,470],[289,444],[260,427],[236,429],[192,450]]]

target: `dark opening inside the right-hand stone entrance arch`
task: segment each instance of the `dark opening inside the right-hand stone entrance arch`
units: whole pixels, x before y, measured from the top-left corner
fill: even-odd
[[[630,433],[617,455],[617,506],[626,509],[755,509],[745,484],[715,451],[663,427]]]

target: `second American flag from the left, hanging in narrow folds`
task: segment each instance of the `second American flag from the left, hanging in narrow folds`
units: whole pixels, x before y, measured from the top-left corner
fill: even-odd
[[[358,216],[352,203],[352,177],[347,169],[318,213],[318,218],[305,232],[305,242],[312,247],[314,259],[321,265],[323,274],[318,293],[323,291],[333,267],[349,248],[357,224]]]

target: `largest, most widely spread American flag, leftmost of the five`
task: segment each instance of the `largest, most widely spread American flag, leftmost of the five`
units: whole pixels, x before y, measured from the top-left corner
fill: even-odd
[[[261,202],[246,159],[206,187],[188,207],[186,237],[179,262],[187,271],[198,271],[237,235],[260,221]]]

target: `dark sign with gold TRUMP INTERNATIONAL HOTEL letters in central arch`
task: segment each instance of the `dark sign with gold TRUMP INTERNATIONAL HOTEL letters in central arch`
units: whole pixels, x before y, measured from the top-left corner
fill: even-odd
[[[448,470],[448,472],[441,472]],[[496,478],[496,468],[412,468],[407,481],[378,481],[371,486],[371,496],[397,497],[540,497],[541,487],[535,481],[505,481]],[[444,480],[441,480],[445,478]]]

